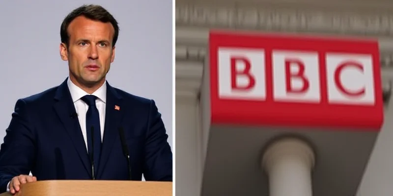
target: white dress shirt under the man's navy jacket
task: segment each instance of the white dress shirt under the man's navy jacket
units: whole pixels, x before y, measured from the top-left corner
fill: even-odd
[[[77,85],[75,85],[70,78],[68,78],[67,81],[68,84],[68,89],[70,90],[71,93],[71,98],[72,102],[74,103],[75,110],[78,114],[78,120],[79,124],[81,125],[82,129],[82,135],[84,138],[84,144],[86,145],[86,151],[87,151],[87,136],[86,136],[86,113],[87,110],[89,109],[89,106],[81,99],[85,95],[90,95],[86,93],[84,90],[79,88]],[[104,84],[97,89],[93,94],[97,97],[95,100],[95,104],[98,109],[98,113],[100,115],[100,129],[101,129],[101,142],[104,137],[104,126],[105,126],[105,106],[107,102],[107,82],[105,81]],[[7,192],[10,191],[9,189],[9,183],[7,184]]]

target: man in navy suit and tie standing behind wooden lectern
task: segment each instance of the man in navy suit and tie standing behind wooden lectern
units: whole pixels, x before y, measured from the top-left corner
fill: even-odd
[[[116,20],[97,5],[64,19],[60,56],[68,61],[69,77],[16,102],[0,148],[1,193],[49,179],[141,180],[143,174],[172,181],[172,152],[155,102],[106,81],[118,32]]]

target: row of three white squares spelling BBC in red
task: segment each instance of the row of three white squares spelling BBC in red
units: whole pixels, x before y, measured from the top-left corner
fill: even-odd
[[[263,101],[271,85],[274,101],[375,103],[370,54],[220,47],[218,73],[220,98]]]

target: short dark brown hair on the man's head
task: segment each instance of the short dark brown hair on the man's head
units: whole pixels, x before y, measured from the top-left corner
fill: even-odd
[[[82,5],[76,9],[74,9],[71,13],[69,13],[61,23],[60,27],[60,39],[61,43],[64,43],[67,48],[69,44],[70,36],[68,34],[68,26],[70,23],[77,17],[84,16],[93,21],[100,21],[103,23],[111,23],[114,28],[114,35],[112,39],[112,47],[116,44],[117,38],[119,36],[119,26],[117,21],[114,19],[111,13],[109,13],[105,8],[100,5]]]

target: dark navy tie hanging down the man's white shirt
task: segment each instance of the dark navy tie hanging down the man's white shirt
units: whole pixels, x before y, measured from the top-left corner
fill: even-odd
[[[93,160],[94,160],[94,173],[97,173],[97,168],[100,160],[101,154],[101,128],[100,128],[100,115],[98,113],[98,109],[95,105],[95,100],[97,97],[93,95],[86,95],[81,98],[85,103],[89,105],[89,108],[86,113],[86,136],[87,136],[87,148],[89,154],[93,151]],[[92,137],[91,132],[94,127],[94,145],[92,146]],[[94,149],[92,149],[94,147]]]

